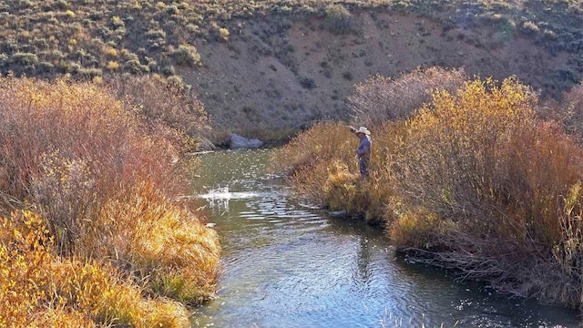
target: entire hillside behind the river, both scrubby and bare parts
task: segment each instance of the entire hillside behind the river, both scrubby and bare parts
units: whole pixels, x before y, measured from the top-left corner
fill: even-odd
[[[557,97],[583,77],[582,13],[581,1],[0,1],[0,70],[176,75],[214,128],[250,134],[348,118],[355,83],[415,67],[517,75]]]

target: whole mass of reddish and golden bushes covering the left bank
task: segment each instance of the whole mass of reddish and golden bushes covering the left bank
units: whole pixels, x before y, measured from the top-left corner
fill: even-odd
[[[43,232],[34,223],[31,238],[46,234],[55,246],[37,249],[48,260],[27,261],[38,267],[26,270],[38,275],[15,278],[10,288],[16,294],[0,295],[0,313],[9,313],[5,306],[14,304],[5,297],[15,296],[36,302],[17,316],[23,323],[66,321],[63,316],[71,313],[106,325],[188,325],[189,314],[179,302],[210,296],[220,251],[215,232],[171,200],[189,190],[182,163],[170,164],[188,138],[139,116],[94,84],[5,78],[2,86],[0,210],[7,219],[0,239],[3,245],[19,242],[12,227],[22,231],[33,223],[21,222],[12,209],[28,208],[35,213],[25,219],[41,220],[48,228]],[[28,256],[26,251],[35,250],[22,251]],[[0,256],[5,251],[12,250],[0,248]],[[21,268],[15,261],[7,265],[9,272]],[[159,288],[167,281],[171,288]],[[39,289],[18,293],[29,284]],[[72,293],[53,292],[66,288]]]

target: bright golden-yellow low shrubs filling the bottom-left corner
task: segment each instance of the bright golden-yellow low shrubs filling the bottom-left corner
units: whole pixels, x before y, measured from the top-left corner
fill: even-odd
[[[189,327],[184,305],[149,300],[138,285],[96,261],[63,259],[33,212],[0,225],[0,323],[3,327]]]

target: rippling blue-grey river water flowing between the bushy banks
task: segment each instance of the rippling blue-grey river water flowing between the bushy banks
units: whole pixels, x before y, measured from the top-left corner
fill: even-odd
[[[193,326],[578,326],[576,312],[455,282],[451,272],[408,263],[378,227],[302,206],[267,173],[268,156],[201,157],[195,193],[220,233],[223,272]]]

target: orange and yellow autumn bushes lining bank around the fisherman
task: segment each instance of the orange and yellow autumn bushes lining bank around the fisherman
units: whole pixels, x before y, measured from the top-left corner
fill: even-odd
[[[356,108],[357,124],[373,131],[369,179],[356,174],[356,138],[342,123],[315,125],[274,162],[309,200],[383,222],[401,251],[504,292],[580,308],[583,149],[560,126],[578,124],[579,89],[563,103],[538,104],[514,79],[462,80],[401,110],[399,99],[422,99],[429,89],[399,89],[407,78],[372,81],[354,95],[353,104],[366,90],[369,105],[392,104],[368,117],[371,106]],[[555,123],[542,119],[551,112]]]

